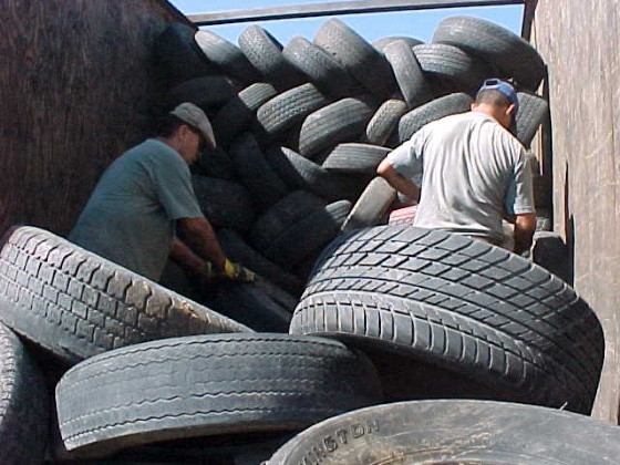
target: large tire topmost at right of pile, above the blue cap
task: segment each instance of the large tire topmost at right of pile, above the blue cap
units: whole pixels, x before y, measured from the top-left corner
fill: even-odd
[[[433,42],[447,43],[478,55],[513,78],[519,87],[536,91],[545,76],[545,62],[538,52],[514,32],[493,22],[455,16],[440,22]]]

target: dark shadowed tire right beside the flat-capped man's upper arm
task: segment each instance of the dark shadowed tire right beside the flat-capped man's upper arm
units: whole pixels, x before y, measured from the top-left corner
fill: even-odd
[[[241,184],[207,176],[192,176],[194,193],[205,217],[218,228],[247,231],[255,220],[252,197]]]

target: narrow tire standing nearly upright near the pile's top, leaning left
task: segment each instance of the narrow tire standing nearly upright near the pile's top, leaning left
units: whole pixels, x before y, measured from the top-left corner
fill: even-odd
[[[388,44],[383,54],[392,66],[401,94],[410,108],[433,100],[422,66],[405,41],[396,40]]]

